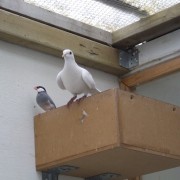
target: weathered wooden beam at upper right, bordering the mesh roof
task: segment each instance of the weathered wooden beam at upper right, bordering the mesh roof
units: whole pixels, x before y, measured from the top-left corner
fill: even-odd
[[[180,3],[112,33],[114,47],[129,48],[180,28]]]

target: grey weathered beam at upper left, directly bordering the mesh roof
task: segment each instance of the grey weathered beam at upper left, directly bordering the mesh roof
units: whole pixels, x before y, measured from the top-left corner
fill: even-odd
[[[8,11],[21,14],[22,16],[55,26],[59,29],[105,44],[112,44],[112,35],[110,32],[34,6],[24,2],[24,0],[1,0],[0,6]]]

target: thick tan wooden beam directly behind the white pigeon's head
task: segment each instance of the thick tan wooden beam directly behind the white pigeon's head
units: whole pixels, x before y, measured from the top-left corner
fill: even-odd
[[[115,75],[128,72],[119,65],[119,50],[34,20],[0,10],[0,39],[60,56],[73,50],[78,63]]]

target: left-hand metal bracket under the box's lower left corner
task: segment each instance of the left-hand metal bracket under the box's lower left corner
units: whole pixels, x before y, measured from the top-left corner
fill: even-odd
[[[42,172],[42,180],[58,180],[59,174],[67,173],[72,170],[76,170],[78,167],[74,166],[60,166],[57,168],[49,169]]]

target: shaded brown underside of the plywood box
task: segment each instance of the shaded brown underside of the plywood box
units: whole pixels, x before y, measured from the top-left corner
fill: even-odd
[[[67,173],[70,176],[90,177],[102,173],[120,174],[117,179],[135,177],[180,165],[179,160],[155,154],[114,148],[68,162],[79,169]]]

